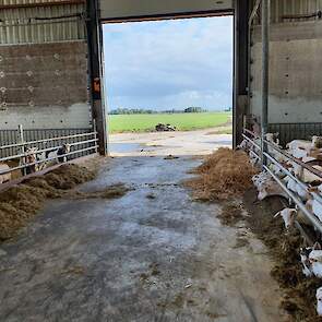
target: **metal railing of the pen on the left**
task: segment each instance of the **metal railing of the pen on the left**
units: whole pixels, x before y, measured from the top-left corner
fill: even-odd
[[[5,170],[0,170],[0,176],[8,175],[16,170],[22,170],[22,175],[24,176],[26,175],[27,168],[41,165],[41,164],[50,167],[52,166],[52,164],[49,164],[51,162],[64,163],[69,158],[73,159],[84,154],[88,155],[88,154],[97,153],[97,150],[98,150],[98,139],[97,139],[98,133],[96,131],[95,122],[93,126],[93,131],[88,133],[56,136],[56,138],[48,138],[48,139],[34,140],[34,141],[24,141],[24,131],[22,126],[19,126],[17,132],[19,132],[17,140],[20,142],[0,146],[0,151],[8,150],[8,148],[10,150],[16,148],[16,152],[12,153],[9,156],[1,157],[0,163],[5,164],[8,162],[19,160],[19,165],[8,168]],[[79,140],[79,141],[72,142],[74,140]],[[55,155],[50,157],[50,154],[49,154],[50,152],[55,152],[60,148],[63,148],[63,144],[52,146],[52,143],[55,142],[59,142],[59,143],[63,142],[63,144],[69,144],[70,151],[62,155]],[[51,146],[44,148],[43,146],[48,143],[50,143]],[[28,151],[28,150],[32,150],[32,151]],[[29,157],[31,155],[34,156],[34,160],[27,162],[27,157]],[[39,155],[43,156],[40,159],[38,157]]]

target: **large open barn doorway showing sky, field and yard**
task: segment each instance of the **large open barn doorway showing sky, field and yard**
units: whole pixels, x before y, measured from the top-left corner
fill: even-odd
[[[232,144],[232,16],[105,24],[111,155]]]

